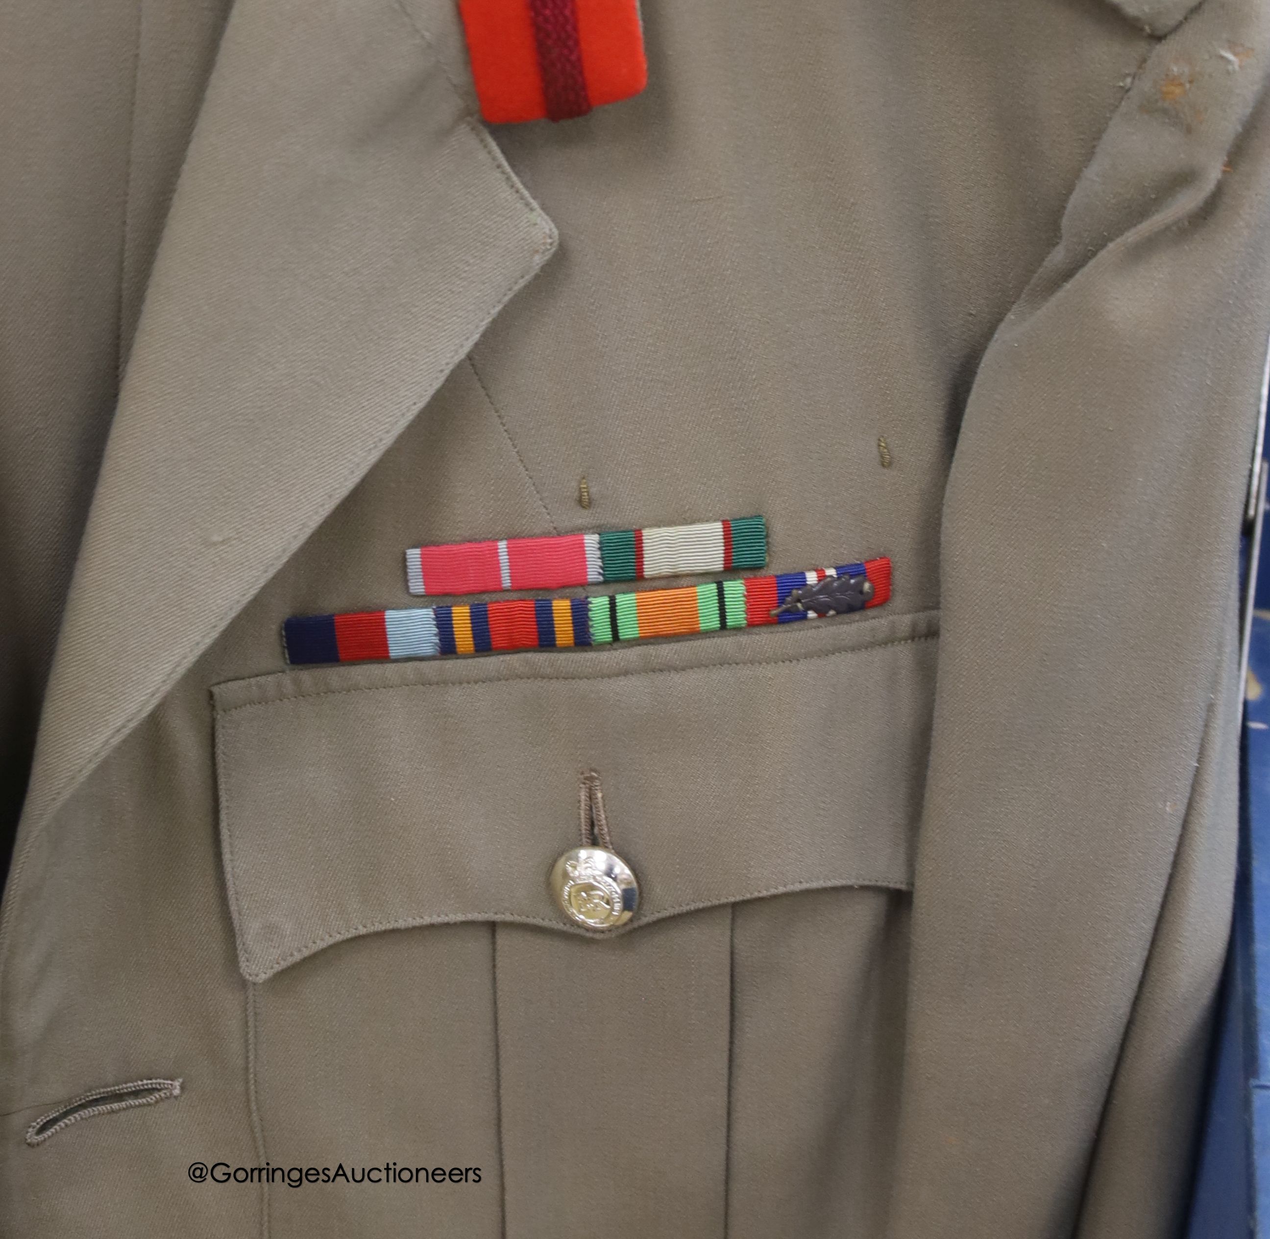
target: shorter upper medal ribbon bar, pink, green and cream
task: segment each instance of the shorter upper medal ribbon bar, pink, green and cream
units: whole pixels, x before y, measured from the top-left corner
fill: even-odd
[[[411,594],[432,598],[766,566],[767,524],[762,517],[660,529],[417,546],[405,552],[406,586]]]

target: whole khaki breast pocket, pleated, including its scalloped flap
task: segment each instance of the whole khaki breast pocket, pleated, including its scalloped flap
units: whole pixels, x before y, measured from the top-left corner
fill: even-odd
[[[319,1172],[274,1239],[867,1233],[935,617],[789,627],[215,691],[260,1141]],[[591,769],[603,934],[550,882]]]

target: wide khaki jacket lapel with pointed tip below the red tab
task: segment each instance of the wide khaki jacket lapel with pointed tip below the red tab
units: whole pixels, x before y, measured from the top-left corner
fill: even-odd
[[[471,117],[452,6],[415,8],[422,17],[395,0],[235,8],[81,546],[28,833],[555,248]]]

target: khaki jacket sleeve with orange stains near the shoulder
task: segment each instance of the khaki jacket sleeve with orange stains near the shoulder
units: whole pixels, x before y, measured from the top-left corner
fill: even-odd
[[[1229,924],[1270,20],[1161,39],[945,498],[895,1239],[1172,1234]]]

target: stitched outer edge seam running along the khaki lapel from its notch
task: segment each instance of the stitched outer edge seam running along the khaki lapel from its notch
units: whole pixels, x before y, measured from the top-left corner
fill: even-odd
[[[500,156],[495,154],[498,149],[494,143],[479,131],[479,127],[474,127],[470,121],[467,122],[466,128],[485,149],[486,156],[494,161],[494,166],[503,179],[517,189],[517,197],[523,203],[532,204],[533,199],[528,197],[523,188],[514,184],[514,179],[503,165]],[[503,308],[503,306],[505,306],[508,301],[511,301],[512,297],[514,297],[516,293],[519,292],[521,288],[525,287],[525,284],[528,283],[528,281],[536,274],[538,267],[541,265],[538,259],[545,253],[549,253],[555,242],[555,229],[536,206],[533,207],[533,216],[538,227],[542,230],[542,237],[533,250],[533,259],[513,277],[503,295],[493,301],[488,312],[479,316],[479,325],[476,329],[465,340],[462,340],[457,348],[452,349],[451,353],[447,354],[446,361],[437,368],[441,378],[432,385],[425,396],[417,397],[409,402],[408,409],[413,411],[403,415],[400,423],[391,425],[385,433],[372,439],[368,451],[358,457],[357,465],[340,475],[340,479],[324,493],[318,504],[318,508],[324,513],[324,515],[319,518],[318,523],[321,523],[321,519],[330,513],[339,498],[347,494],[359,477],[366,475],[371,465],[380,458],[387,446],[401,433],[410,418],[417,416],[432,396],[436,395],[437,388],[441,386],[441,382],[444,381],[444,377],[450,373],[450,371],[458,364],[460,359],[465,354],[471,352],[472,345],[480,339],[485,328],[488,328],[489,324],[498,316],[498,312]],[[316,528],[316,526],[314,526],[314,528]],[[265,561],[263,569],[248,580],[246,593],[244,594],[241,590],[237,592],[234,600],[222,611],[217,612],[217,618],[208,641],[196,645],[192,650],[187,650],[177,659],[173,674],[157,684],[151,692],[146,693],[146,696],[138,702],[137,710],[130,717],[121,720],[110,727],[109,731],[107,731],[107,734],[102,738],[102,741],[95,745],[88,757],[74,768],[70,777],[64,782],[62,790],[50,802],[41,818],[33,820],[29,829],[24,832],[25,838],[22,843],[20,851],[14,857],[9,873],[9,881],[5,887],[6,898],[3,906],[0,906],[0,995],[4,995],[8,990],[6,977],[9,952],[13,941],[10,925],[14,922],[14,917],[17,915],[15,908],[18,906],[22,899],[22,892],[24,891],[24,887],[22,886],[22,876],[25,872],[27,858],[30,856],[30,851],[34,847],[36,840],[43,833],[48,823],[52,821],[58,814],[66,801],[75,793],[84,778],[88,777],[88,773],[102,762],[103,757],[114,748],[116,743],[118,743],[123,735],[131,731],[141,719],[154,710],[155,705],[171,691],[171,686],[184,672],[189,669],[193,661],[203,650],[207,649],[211,641],[215,641],[217,636],[225,631],[226,625],[243,609],[244,603],[241,599],[251,598],[258,594],[264,584],[273,578],[278,569],[296,553],[296,550],[302,546],[311,534],[312,528],[302,528],[295,538],[283,543],[277,555]],[[4,1022],[0,1021],[0,1035],[3,1035],[3,1031]]]

